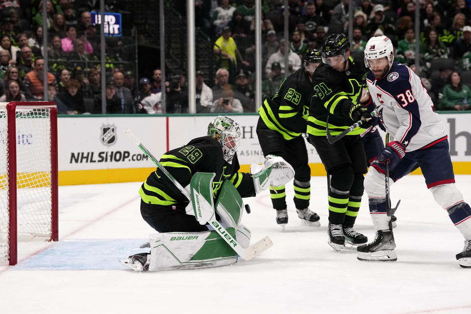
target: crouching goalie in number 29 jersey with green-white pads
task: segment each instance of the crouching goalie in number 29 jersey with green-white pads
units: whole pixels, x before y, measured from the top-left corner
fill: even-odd
[[[189,194],[200,186],[205,187],[203,183],[207,183],[205,188],[209,189],[209,195],[213,198],[208,206],[213,210],[216,220],[222,221],[222,225],[228,221],[223,218],[231,215],[232,236],[248,245],[250,230],[239,224],[243,203],[241,197],[255,196],[270,185],[289,182],[294,176],[294,170],[283,158],[274,157],[259,166],[260,174],[263,173],[261,177],[254,176],[255,171],[253,174],[238,172],[236,150],[240,137],[239,126],[233,119],[217,116],[208,126],[208,136],[194,138],[182,147],[162,155],[160,165],[170,176],[157,168],[139,189],[141,215],[159,234],[149,236],[149,242],[154,243],[150,245],[151,254],[131,255],[128,260],[120,261],[122,264],[136,271],[145,271],[214,267],[236,262],[237,254],[234,250],[224,241],[218,243],[218,239],[223,239],[214,235],[215,231],[209,231],[205,224],[207,220],[200,219],[201,208],[204,207],[200,203],[204,200],[200,201],[198,197],[195,200],[193,196],[189,200],[177,184]],[[196,173],[213,173],[214,177],[211,181],[199,182],[195,186],[190,182]],[[226,203],[222,203],[221,199]],[[196,208],[200,217],[196,217]],[[240,245],[243,247],[243,244]]]

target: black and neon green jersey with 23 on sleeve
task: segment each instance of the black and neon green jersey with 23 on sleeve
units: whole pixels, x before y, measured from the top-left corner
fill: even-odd
[[[270,130],[278,131],[286,140],[306,132],[309,104],[314,86],[304,68],[286,78],[271,98],[259,109],[260,117]]]

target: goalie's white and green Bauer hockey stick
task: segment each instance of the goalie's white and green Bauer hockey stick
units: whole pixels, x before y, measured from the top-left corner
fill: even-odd
[[[151,160],[157,165],[157,167],[163,172],[164,175],[167,176],[170,181],[172,181],[173,184],[182,192],[182,194],[188,199],[188,201],[191,202],[191,196],[188,193],[187,190],[180,184],[175,178],[165,169],[158,161],[157,158],[154,157],[148,150],[145,148],[144,145],[141,144],[137,140],[137,138],[132,134],[131,130],[127,129],[126,134],[128,134],[132,140],[136,143],[136,145],[149,157]],[[214,211],[214,208],[213,208]],[[253,259],[257,254],[262,253],[269,247],[273,245],[273,242],[271,241],[270,237],[265,236],[258,242],[252,244],[251,246],[247,248],[243,248],[236,240],[235,238],[232,238],[231,235],[226,231],[226,229],[221,226],[221,224],[216,220],[214,213],[212,214],[211,218],[208,220],[209,225],[211,225],[214,230],[226,241],[229,246],[232,247],[232,249],[237,253],[242,259],[248,261]]]

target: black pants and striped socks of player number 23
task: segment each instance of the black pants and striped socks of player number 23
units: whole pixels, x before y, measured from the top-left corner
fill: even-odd
[[[309,207],[311,199],[311,168],[308,164],[308,152],[304,137],[285,140],[277,132],[266,128],[262,120],[257,125],[257,136],[263,156],[283,157],[294,169],[294,206],[296,209]],[[270,187],[270,197],[274,209],[286,209],[285,185]]]

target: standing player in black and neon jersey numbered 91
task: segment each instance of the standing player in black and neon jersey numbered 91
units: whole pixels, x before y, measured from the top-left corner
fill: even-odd
[[[371,121],[366,106],[360,104],[366,81],[363,52],[349,51],[344,34],[327,37],[322,48],[322,64],[313,76],[316,94],[309,107],[308,134],[330,179],[329,240],[337,251],[345,246],[367,242],[365,235],[353,229],[363,196],[363,174],[367,164],[357,128],[334,144],[326,138],[326,125],[337,135],[362,117]]]

